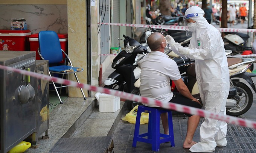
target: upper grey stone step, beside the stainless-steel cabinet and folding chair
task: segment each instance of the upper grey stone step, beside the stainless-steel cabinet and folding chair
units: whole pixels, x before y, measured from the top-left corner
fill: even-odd
[[[36,146],[28,148],[25,153],[46,153],[62,137],[69,138],[75,133],[97,104],[95,98],[67,98],[49,114],[49,139],[42,139],[43,133]]]

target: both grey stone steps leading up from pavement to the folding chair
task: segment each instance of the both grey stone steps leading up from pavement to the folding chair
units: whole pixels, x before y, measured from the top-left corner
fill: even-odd
[[[67,98],[56,107],[49,116],[49,139],[40,136],[38,144],[30,147],[25,153],[48,153],[63,144],[63,139],[95,139],[96,136],[106,139],[106,144],[113,142],[112,135],[124,113],[124,102],[115,113],[99,112],[95,98]],[[103,136],[107,138],[103,138]],[[109,145],[110,146],[110,145]],[[53,148],[55,147],[55,148]],[[82,145],[81,145],[82,147]],[[106,146],[107,147],[107,146]],[[82,149],[82,148],[81,148]]]

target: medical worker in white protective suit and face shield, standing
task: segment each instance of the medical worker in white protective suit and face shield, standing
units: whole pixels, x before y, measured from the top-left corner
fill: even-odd
[[[172,50],[195,59],[195,71],[200,97],[206,111],[225,115],[229,95],[229,69],[220,32],[203,17],[198,6],[189,7],[184,15],[187,34],[192,34],[189,47],[183,47],[167,35]],[[191,152],[212,152],[215,147],[227,145],[227,123],[205,118],[200,127],[200,142],[192,145]]]

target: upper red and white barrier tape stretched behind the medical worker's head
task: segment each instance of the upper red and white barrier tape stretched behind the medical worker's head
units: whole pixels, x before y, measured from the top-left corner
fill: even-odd
[[[163,25],[149,25],[149,24],[128,24],[128,23],[98,23],[111,26],[125,26],[125,27],[142,27],[142,28],[163,28],[168,30],[181,30],[185,31],[184,26],[163,26]],[[217,28],[221,32],[256,32],[256,29],[244,28]]]

